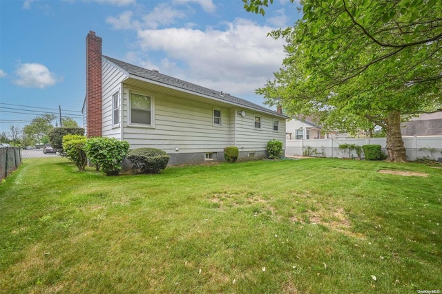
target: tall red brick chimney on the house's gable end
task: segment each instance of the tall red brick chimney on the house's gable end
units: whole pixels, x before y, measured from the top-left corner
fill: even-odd
[[[86,134],[102,136],[102,38],[86,36]]]

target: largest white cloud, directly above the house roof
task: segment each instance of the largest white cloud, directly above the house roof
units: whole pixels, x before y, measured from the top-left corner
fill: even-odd
[[[280,67],[284,41],[267,38],[273,28],[245,19],[226,25],[226,30],[138,30],[137,36],[144,52],[166,53],[157,65],[160,72],[214,90],[251,94]],[[152,65],[151,61],[138,64]]]

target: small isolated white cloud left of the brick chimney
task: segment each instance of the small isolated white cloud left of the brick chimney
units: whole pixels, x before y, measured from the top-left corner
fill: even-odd
[[[44,89],[57,83],[56,74],[49,72],[48,67],[40,63],[19,64],[15,74],[17,75],[17,79],[14,83],[21,87],[38,87]]]

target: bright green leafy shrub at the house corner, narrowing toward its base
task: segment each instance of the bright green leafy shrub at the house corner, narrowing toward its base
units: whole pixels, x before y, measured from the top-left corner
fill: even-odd
[[[129,143],[115,138],[94,137],[86,140],[84,149],[90,162],[99,165],[106,176],[115,176],[122,169]]]

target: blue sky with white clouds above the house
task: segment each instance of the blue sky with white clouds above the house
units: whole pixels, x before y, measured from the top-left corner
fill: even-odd
[[[103,38],[104,55],[262,105],[254,92],[285,56],[284,42],[267,33],[300,14],[289,0],[275,0],[265,17],[242,6],[241,0],[0,0],[0,132],[59,105],[62,116],[82,126],[90,30]]]

